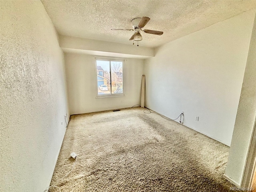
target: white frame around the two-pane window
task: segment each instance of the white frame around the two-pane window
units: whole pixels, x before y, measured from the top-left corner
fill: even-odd
[[[108,61],[109,66],[110,66],[110,94],[98,94],[98,70],[97,70],[97,60],[101,61]],[[112,93],[112,79],[111,79],[111,62],[122,62],[122,87],[123,87],[123,92],[122,93]],[[108,98],[108,97],[120,97],[120,96],[125,96],[124,94],[124,59],[117,59],[117,58],[95,58],[95,70],[96,70],[96,98]]]

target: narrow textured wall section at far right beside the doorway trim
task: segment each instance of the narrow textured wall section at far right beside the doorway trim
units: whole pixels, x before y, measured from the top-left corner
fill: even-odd
[[[256,18],[256,17],[255,17]],[[225,176],[240,186],[256,120],[256,20]],[[256,138],[254,138],[255,140]],[[248,186],[243,186],[248,187]]]

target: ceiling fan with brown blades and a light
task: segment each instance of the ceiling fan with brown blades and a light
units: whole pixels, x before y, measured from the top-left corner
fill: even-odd
[[[143,31],[143,32],[149,33],[149,34],[154,34],[154,35],[162,35],[164,33],[162,31],[154,31],[154,30],[148,30],[148,29],[142,30],[142,28],[148,23],[149,20],[150,20],[149,17],[134,18],[132,20],[133,29],[111,29],[111,30],[135,31],[129,40],[134,40],[137,42],[142,40],[140,31]],[[137,46],[139,46],[139,45],[137,44]]]

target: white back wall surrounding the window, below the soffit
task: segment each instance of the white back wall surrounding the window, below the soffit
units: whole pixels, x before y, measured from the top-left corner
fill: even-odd
[[[128,108],[140,104],[142,59],[126,58],[124,61],[125,96],[96,98],[98,86],[95,57],[106,57],[77,53],[64,54],[70,114]]]

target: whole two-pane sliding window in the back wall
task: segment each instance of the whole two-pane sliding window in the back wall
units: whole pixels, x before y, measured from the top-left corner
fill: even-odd
[[[124,60],[96,59],[96,68],[98,83],[97,95],[100,97],[123,96]]]

